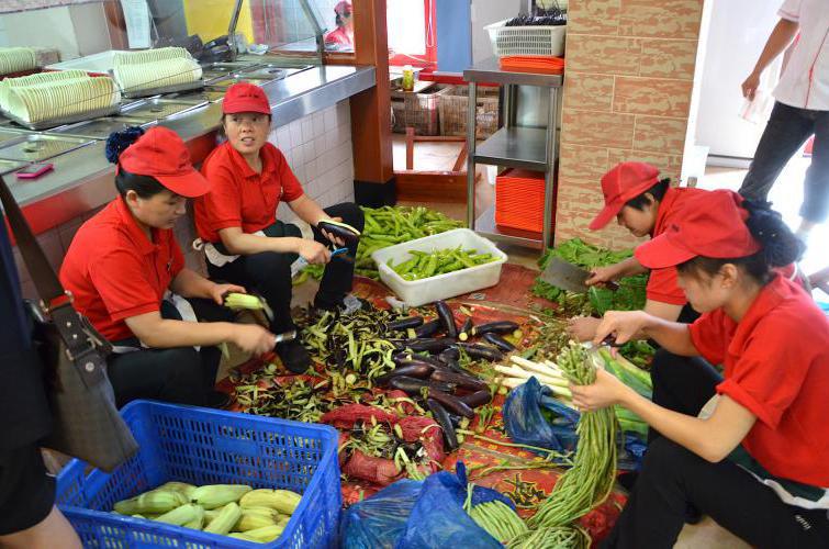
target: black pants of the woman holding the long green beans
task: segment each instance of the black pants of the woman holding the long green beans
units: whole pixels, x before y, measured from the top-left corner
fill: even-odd
[[[688,415],[699,413],[720,380],[704,360],[664,350],[652,378],[653,401]],[[671,548],[688,505],[754,547],[818,548],[829,540],[826,509],[786,505],[730,460],[712,463],[652,432],[636,488],[602,547]]]

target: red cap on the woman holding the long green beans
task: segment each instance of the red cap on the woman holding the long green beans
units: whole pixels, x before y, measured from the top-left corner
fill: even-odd
[[[747,257],[760,251],[741,208],[742,197],[718,190],[687,199],[677,223],[636,248],[636,258],[649,269],[684,264],[697,256],[718,259]]]

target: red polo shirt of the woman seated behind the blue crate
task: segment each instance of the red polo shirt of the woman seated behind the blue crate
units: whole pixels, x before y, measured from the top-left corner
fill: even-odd
[[[117,198],[80,226],[60,267],[60,282],[78,312],[117,341],[134,336],[124,318],[158,311],[183,267],[172,231],[154,228],[149,242]]]

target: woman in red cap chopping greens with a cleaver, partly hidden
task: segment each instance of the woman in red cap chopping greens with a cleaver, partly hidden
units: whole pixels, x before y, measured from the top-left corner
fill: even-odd
[[[605,206],[590,224],[598,231],[616,217],[619,225],[637,237],[657,237],[672,223],[692,197],[708,191],[671,187],[671,180],[660,179],[659,170],[645,163],[620,163],[602,177]],[[604,284],[625,277],[648,272],[636,257],[620,264],[593,269],[587,285]],[[692,322],[697,314],[687,306],[682,289],[676,285],[676,269],[652,269],[648,278],[645,311],[668,321]],[[593,338],[600,320],[575,317],[570,320],[571,335],[582,341]]]

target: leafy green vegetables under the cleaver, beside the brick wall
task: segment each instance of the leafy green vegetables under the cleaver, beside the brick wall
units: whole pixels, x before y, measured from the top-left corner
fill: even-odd
[[[552,257],[559,257],[584,269],[592,269],[624,261],[630,256],[632,250],[610,251],[573,238],[557,248],[548,249],[538,260],[538,266],[544,270]],[[592,287],[586,294],[581,294],[567,292],[539,279],[533,285],[533,293],[557,303],[568,316],[601,316],[606,311],[637,311],[645,307],[645,287],[648,283],[646,274],[624,278],[618,283],[619,289],[615,292]]]

